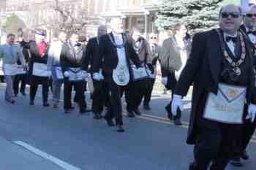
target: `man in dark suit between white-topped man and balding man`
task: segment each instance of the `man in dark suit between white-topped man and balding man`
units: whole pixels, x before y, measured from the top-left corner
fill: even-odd
[[[85,106],[84,83],[87,73],[83,70],[82,59],[85,55],[83,46],[78,43],[78,34],[73,33],[69,41],[62,46],[61,69],[64,73],[64,110],[69,114],[72,110],[72,88],[75,89],[80,114],[89,112]]]

